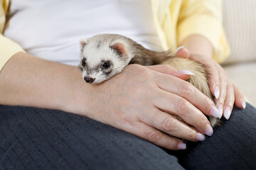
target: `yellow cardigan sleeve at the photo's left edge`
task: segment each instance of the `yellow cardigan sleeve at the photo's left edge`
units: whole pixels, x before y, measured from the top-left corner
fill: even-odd
[[[17,52],[24,52],[22,47],[16,42],[4,37],[4,26],[6,23],[6,13],[9,7],[9,0],[0,0],[0,72],[8,60]]]

